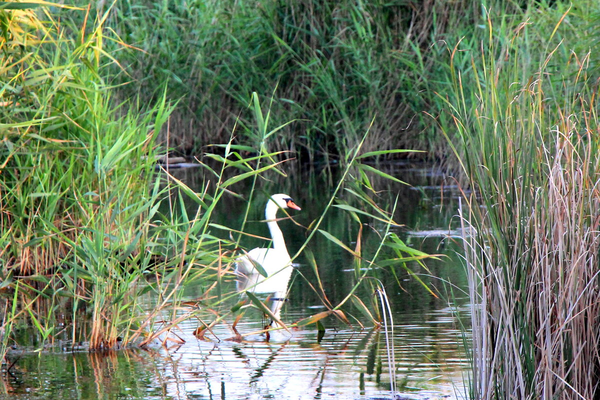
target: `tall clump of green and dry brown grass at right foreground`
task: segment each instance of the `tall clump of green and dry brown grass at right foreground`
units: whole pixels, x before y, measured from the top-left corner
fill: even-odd
[[[505,20],[490,11],[487,40],[449,49],[440,121],[475,193],[460,210],[474,399],[600,393],[594,4],[557,4]]]

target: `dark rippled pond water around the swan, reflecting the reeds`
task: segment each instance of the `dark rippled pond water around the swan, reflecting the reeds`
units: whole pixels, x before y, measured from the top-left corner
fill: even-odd
[[[440,190],[442,176],[428,166],[397,163],[386,172],[412,184],[377,181],[381,190],[378,202],[394,201],[398,206],[394,219],[403,227],[393,228],[405,242],[430,254],[446,254],[442,260],[428,260],[429,271],[414,264],[413,272],[431,287],[428,293],[416,279],[404,272],[396,279],[385,270],[379,279],[385,282],[392,309],[393,325],[376,329],[349,308],[351,326],[333,317],[322,320],[324,332],[314,324],[301,329],[280,329],[255,333],[263,328],[263,315],[249,309],[236,325],[243,338],[236,337],[233,321],[212,328],[203,339],[194,336],[196,320],[179,325],[177,334],[184,344],[151,350],[74,353],[11,354],[14,366],[4,377],[10,399],[461,399],[467,376],[460,324],[468,324],[468,302],[464,268],[455,255],[457,246],[443,233],[455,228],[452,220],[457,209],[456,188]],[[201,187],[199,169],[174,171],[177,178],[191,187]],[[293,196],[302,207],[290,212],[304,226],[314,221],[329,200],[335,170],[296,170],[287,178],[273,175],[260,182],[264,196],[254,200],[250,221],[263,219],[268,193]],[[239,185],[238,193],[248,190]],[[442,196],[443,193],[443,196]],[[341,194],[341,196],[344,196]],[[231,197],[217,210],[217,222],[238,226],[244,201]],[[190,204],[190,209],[193,206]],[[290,254],[304,243],[306,230],[291,221],[280,221]],[[349,221],[343,210],[332,210],[323,229],[353,248],[358,224]],[[381,234],[377,224],[364,225],[361,243],[364,253],[372,253]],[[263,222],[249,222],[249,233],[268,237]],[[244,239],[242,245],[262,245],[260,239]],[[308,248],[314,254],[323,282],[323,290],[334,305],[356,283],[353,257],[324,236],[315,236]],[[315,283],[310,263],[300,255],[294,260],[295,272],[290,284],[289,301],[281,319],[292,322],[323,311],[319,296],[311,289]],[[304,276],[304,278],[302,278]],[[398,285],[400,283],[400,285]],[[234,287],[235,282],[227,283]],[[194,299],[199,288],[186,287],[185,296]],[[365,303],[374,296],[359,288]],[[232,299],[231,304],[239,299]],[[231,306],[225,304],[224,306]],[[457,317],[460,315],[460,318]],[[364,327],[361,327],[361,323]],[[393,334],[392,334],[393,328]],[[386,341],[386,332],[388,340]],[[393,347],[391,347],[393,346]],[[389,350],[393,348],[393,360]],[[390,365],[392,367],[390,368]],[[391,383],[395,383],[395,393]],[[2,395],[0,395],[2,396]]]

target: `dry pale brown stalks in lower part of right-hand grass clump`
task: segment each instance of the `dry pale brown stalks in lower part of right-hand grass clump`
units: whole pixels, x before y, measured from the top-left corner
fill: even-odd
[[[485,212],[467,203],[461,214],[488,232],[463,237],[478,299],[473,398],[598,396],[600,160],[589,134],[570,128],[544,148],[545,176],[517,193],[526,201]],[[514,219],[505,213],[505,231],[491,234],[490,214],[509,206]]]

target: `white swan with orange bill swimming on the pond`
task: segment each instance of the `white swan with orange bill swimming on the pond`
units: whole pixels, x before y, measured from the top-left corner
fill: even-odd
[[[275,221],[278,209],[301,208],[296,206],[292,197],[279,193],[271,196],[266,202],[265,218],[271,231],[273,246],[271,248],[255,248],[236,259],[236,273],[238,278],[238,290],[250,290],[254,293],[274,293],[274,300],[283,302],[286,296],[287,284],[292,275],[292,260],[287,252],[283,233]],[[259,264],[266,272],[266,276],[260,275],[254,264]],[[276,301],[277,302],[277,301]],[[279,307],[275,308],[278,317]]]

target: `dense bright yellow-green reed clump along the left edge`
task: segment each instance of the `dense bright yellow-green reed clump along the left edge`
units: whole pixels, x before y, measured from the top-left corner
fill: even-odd
[[[8,27],[0,43],[0,353],[23,323],[42,342],[67,336],[113,347],[131,323],[140,274],[130,271],[148,262],[160,194],[151,176],[155,139],[169,106],[164,98],[149,107],[112,100],[106,16],[73,31],[47,7],[15,7],[0,11]]]

